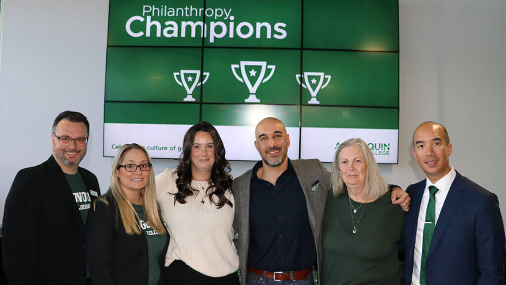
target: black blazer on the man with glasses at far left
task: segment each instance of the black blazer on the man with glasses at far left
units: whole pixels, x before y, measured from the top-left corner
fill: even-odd
[[[100,194],[97,177],[86,169],[78,172],[87,188]],[[18,172],[7,195],[2,226],[9,284],[86,285],[85,225],[53,156]]]

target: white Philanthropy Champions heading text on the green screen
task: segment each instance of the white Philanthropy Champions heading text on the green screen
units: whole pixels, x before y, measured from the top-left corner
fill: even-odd
[[[125,23],[125,30],[132,37],[151,37],[151,31],[154,27],[155,37],[162,35],[167,38],[172,37],[186,37],[187,29],[190,28],[190,37],[197,37],[197,28],[200,29],[200,37],[207,37],[209,31],[209,42],[214,43],[215,39],[228,36],[233,38],[235,35],[240,38],[250,38],[255,34],[255,38],[276,38],[283,39],[286,37],[286,23],[278,22],[274,27],[268,22],[240,22],[236,25],[235,17],[231,15],[232,9],[224,8],[194,8],[186,6],[185,8],[171,8],[166,5],[159,7],[143,6],[142,16],[136,15],[130,17]],[[203,21],[157,21],[152,20],[151,17],[202,17],[204,14],[207,17],[213,17],[215,21],[210,21],[209,26]],[[223,17],[225,16],[225,17]],[[218,19],[228,20],[229,22],[217,21]],[[157,19],[158,19],[157,18]],[[135,22],[143,23],[146,21],[144,29],[132,30],[132,24]],[[162,28],[162,24],[164,27]],[[274,32],[272,32],[274,30]]]

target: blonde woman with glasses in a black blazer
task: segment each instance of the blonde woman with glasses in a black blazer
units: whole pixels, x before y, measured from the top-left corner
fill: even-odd
[[[94,285],[156,285],[167,234],[160,220],[151,159],[125,144],[112,163],[111,186],[93,203],[86,224],[88,268]]]

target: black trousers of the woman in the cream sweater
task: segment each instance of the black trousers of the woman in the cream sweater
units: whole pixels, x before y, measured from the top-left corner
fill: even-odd
[[[181,260],[175,260],[168,267],[163,266],[162,272],[165,284],[160,285],[238,285],[239,276],[232,272],[223,277],[204,275]]]

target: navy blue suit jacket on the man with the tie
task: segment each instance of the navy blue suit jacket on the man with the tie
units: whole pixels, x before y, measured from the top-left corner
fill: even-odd
[[[418,213],[426,180],[410,185],[404,221],[404,285],[411,284]],[[504,226],[497,196],[458,172],[446,196],[427,256],[427,285],[502,285]]]

